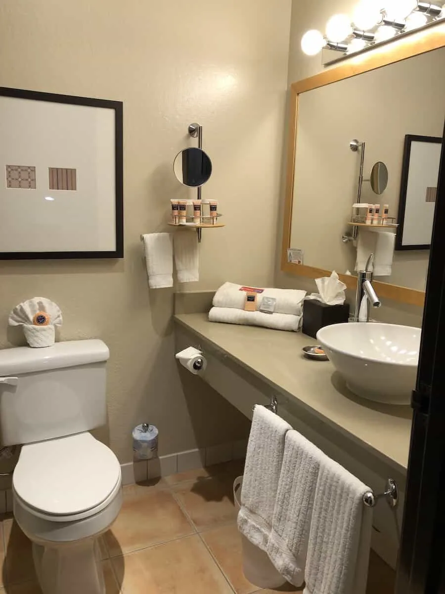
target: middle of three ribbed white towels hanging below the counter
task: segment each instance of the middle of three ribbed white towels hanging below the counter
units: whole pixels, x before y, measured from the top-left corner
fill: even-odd
[[[288,431],[278,482],[268,555],[294,586],[304,582],[317,478],[325,454],[297,431]]]

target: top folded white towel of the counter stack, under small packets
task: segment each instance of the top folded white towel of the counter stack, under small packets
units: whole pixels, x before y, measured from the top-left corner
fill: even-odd
[[[241,286],[234,283],[224,283],[224,285],[221,285],[215,293],[213,305],[215,307],[244,309],[246,292],[240,290]],[[256,299],[257,310],[260,309],[264,297],[273,297],[276,299],[276,314],[301,315],[306,291],[297,289],[263,289],[262,293],[258,293]]]

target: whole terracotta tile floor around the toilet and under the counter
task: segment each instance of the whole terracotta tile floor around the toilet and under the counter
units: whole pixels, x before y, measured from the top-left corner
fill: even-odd
[[[233,505],[240,463],[124,487],[122,510],[100,539],[107,594],[272,594],[241,570]],[[12,517],[0,522],[0,594],[39,594],[30,542]],[[367,594],[393,592],[393,571],[371,556]],[[88,594],[88,593],[81,593]]]

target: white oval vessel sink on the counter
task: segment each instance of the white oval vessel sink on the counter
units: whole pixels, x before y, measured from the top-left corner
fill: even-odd
[[[408,405],[415,388],[420,328],[379,323],[325,326],[317,340],[349,390],[368,400]]]

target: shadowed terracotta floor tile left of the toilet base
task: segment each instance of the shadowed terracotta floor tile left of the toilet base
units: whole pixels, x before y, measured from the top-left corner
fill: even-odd
[[[31,541],[24,535],[15,520],[5,520],[5,569],[9,584],[36,580]]]

